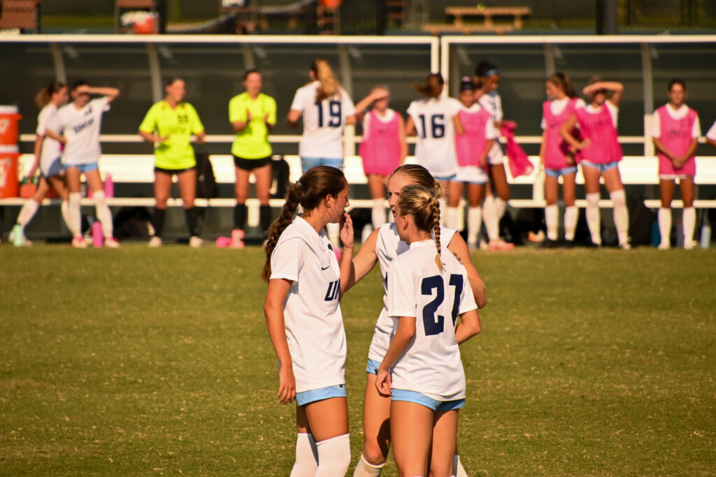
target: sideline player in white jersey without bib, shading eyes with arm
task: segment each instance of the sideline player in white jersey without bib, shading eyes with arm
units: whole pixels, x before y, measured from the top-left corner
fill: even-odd
[[[120,242],[112,237],[112,212],[107,206],[105,191],[98,161],[102,149],[100,147],[100,126],[102,114],[109,109],[108,105],[120,94],[117,88],[90,87],[82,80],[74,82],[70,91],[72,102],[59,109],[50,121],[47,135],[64,144],[62,165],[67,172],[69,188],[69,220],[72,230],[81,230],[82,215],[80,212],[80,176],[84,173],[92,199],[95,201],[97,219],[102,224],[102,235],[106,247],[119,247]],[[102,97],[91,99],[92,94]],[[84,247],[81,235],[72,239],[74,247]]]

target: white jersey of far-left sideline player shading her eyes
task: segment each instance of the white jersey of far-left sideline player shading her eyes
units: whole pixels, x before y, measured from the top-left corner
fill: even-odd
[[[109,109],[108,104],[106,96],[92,99],[82,109],[70,103],[52,117],[48,129],[67,138],[62,164],[92,164],[100,160],[100,127],[102,114]]]

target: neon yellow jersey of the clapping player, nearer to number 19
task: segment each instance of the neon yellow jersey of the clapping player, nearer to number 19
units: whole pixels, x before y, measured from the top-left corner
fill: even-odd
[[[231,154],[243,159],[269,157],[271,155],[269,129],[266,128],[263,118],[266,117],[269,124],[276,124],[276,101],[263,93],[258,94],[256,99],[251,99],[247,93],[242,93],[228,102],[230,122],[246,121],[246,111],[251,114],[251,122],[236,133]]]

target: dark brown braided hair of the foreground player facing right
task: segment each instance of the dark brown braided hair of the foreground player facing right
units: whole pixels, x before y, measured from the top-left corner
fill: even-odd
[[[286,227],[294,221],[299,205],[308,217],[311,211],[321,204],[327,196],[338,197],[348,182],[341,169],[330,166],[316,166],[304,172],[295,184],[286,192],[286,202],[279,218],[269,227],[269,239],[266,240],[266,262],[263,264],[261,278],[268,282],[271,277],[271,253],[279,242]]]

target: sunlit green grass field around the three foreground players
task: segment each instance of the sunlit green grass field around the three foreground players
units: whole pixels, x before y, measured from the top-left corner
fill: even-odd
[[[716,250],[473,258],[470,476],[716,475]],[[262,265],[258,247],[1,245],[0,474],[287,476]],[[375,271],[342,302],[352,465],[381,305]]]

